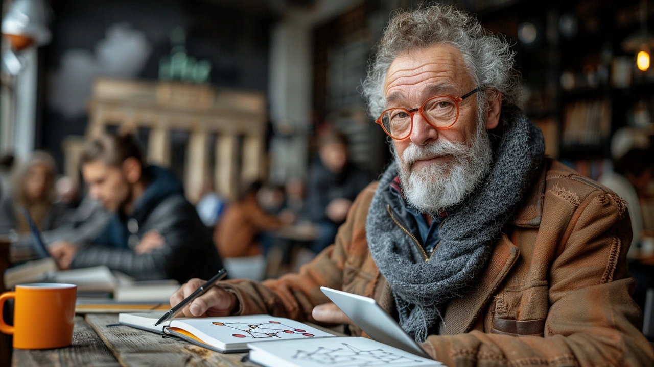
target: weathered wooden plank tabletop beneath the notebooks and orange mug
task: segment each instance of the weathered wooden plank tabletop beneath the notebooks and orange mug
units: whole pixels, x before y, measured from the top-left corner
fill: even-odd
[[[118,315],[87,314],[75,317],[73,345],[58,349],[14,349],[12,366],[219,366],[256,367],[241,362],[248,353],[218,353],[195,344],[115,325]],[[309,324],[326,332],[334,330]]]

